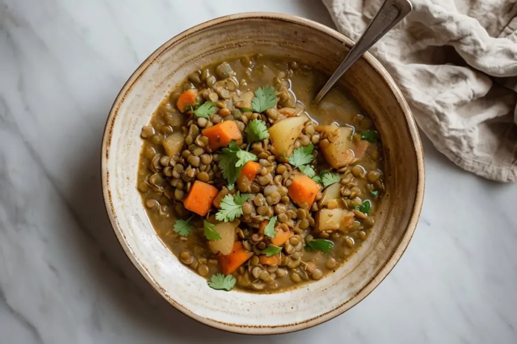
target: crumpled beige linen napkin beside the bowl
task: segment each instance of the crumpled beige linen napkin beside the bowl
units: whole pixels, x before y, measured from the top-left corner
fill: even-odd
[[[357,40],[383,0],[323,0]],[[517,0],[411,0],[370,52],[436,148],[458,166],[517,181]]]

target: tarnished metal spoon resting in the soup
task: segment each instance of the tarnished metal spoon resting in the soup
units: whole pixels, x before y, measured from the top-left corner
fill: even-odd
[[[394,25],[406,17],[413,9],[409,0],[386,0],[372,22],[363,34],[357,40],[356,44],[346,54],[345,59],[339,65],[338,69],[330,76],[327,83],[318,92],[314,99],[315,104],[320,103],[322,98],[327,94],[328,90],[338,81],[343,73],[362,56],[366,51],[381,37],[386,35]]]

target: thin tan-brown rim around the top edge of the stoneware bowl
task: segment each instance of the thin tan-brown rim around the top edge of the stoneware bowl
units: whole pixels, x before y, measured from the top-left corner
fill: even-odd
[[[138,69],[136,69],[136,71],[126,81],[126,84],[120,90],[120,92],[118,93],[118,95],[113,103],[113,106],[110,110],[110,114],[108,116],[108,120],[106,122],[106,126],[104,128],[104,135],[102,138],[102,148],[101,148],[102,194],[103,194],[106,210],[107,210],[108,216],[110,218],[111,225],[113,227],[113,231],[115,232],[115,235],[116,235],[118,241],[120,242],[120,245],[124,249],[124,252],[128,256],[128,258],[131,260],[133,265],[136,267],[136,269],[138,269],[138,271],[140,271],[142,276],[147,280],[147,282],[149,282],[149,284],[151,286],[153,286],[155,291],[158,294],[160,294],[160,296],[164,300],[166,300],[171,305],[173,305],[181,313],[183,313],[183,314],[191,317],[192,319],[195,319],[203,324],[215,327],[216,329],[229,331],[229,332],[235,332],[235,333],[242,333],[242,334],[261,334],[261,335],[280,334],[280,333],[288,333],[288,332],[294,332],[294,331],[308,329],[309,327],[321,324],[334,317],[337,317],[338,315],[344,313],[346,310],[352,308],[359,301],[361,301],[362,299],[367,297],[368,294],[370,294],[370,292],[372,292],[373,289],[375,289],[379,285],[379,283],[381,283],[385,279],[385,277],[388,275],[388,273],[390,273],[390,271],[397,264],[400,257],[406,250],[407,245],[409,244],[409,241],[413,237],[413,233],[415,232],[418,218],[420,216],[420,211],[422,209],[423,195],[424,195],[424,160],[423,160],[422,143],[420,141],[418,129],[417,129],[417,126],[413,119],[413,116],[411,114],[411,111],[409,109],[409,106],[407,105],[407,103],[404,99],[404,96],[402,95],[400,89],[397,87],[397,85],[395,84],[395,82],[393,81],[391,76],[381,65],[381,63],[379,63],[370,53],[364,54],[362,58],[364,60],[366,60],[368,62],[368,64],[377,72],[377,74],[384,79],[386,86],[391,90],[393,95],[396,97],[397,102],[400,105],[400,107],[404,113],[406,127],[407,127],[408,133],[410,135],[411,143],[413,145],[416,160],[417,160],[416,161],[417,185],[416,185],[415,202],[414,202],[414,207],[412,209],[412,215],[409,219],[409,223],[407,225],[404,235],[402,236],[402,239],[400,240],[397,248],[394,250],[392,255],[386,261],[384,266],[381,267],[381,269],[379,269],[377,274],[361,290],[359,290],[359,292],[352,299],[347,300],[345,303],[338,305],[336,308],[334,308],[334,309],[330,310],[329,312],[324,313],[318,317],[308,319],[308,320],[298,322],[298,323],[288,324],[288,325],[261,326],[261,327],[251,328],[249,326],[230,324],[230,323],[225,323],[225,322],[218,322],[213,319],[206,319],[199,315],[196,315],[196,314],[192,313],[189,309],[184,307],[183,305],[179,304],[175,300],[168,297],[165,294],[165,290],[163,289],[163,287],[157,283],[157,281],[153,278],[153,276],[150,275],[150,273],[147,271],[147,269],[142,264],[140,264],[138,259],[136,259],[134,257],[134,255],[131,253],[131,251],[128,247],[128,244],[125,240],[123,231],[121,230],[121,228],[117,222],[116,216],[115,216],[115,210],[113,208],[112,196],[111,196],[111,192],[109,190],[109,185],[108,185],[108,176],[109,176],[108,152],[110,149],[111,139],[112,139],[112,134],[113,134],[113,124],[117,117],[117,113],[118,113],[121,102],[124,101],[126,95],[131,90],[133,85],[139,80],[142,73],[151,64],[153,64],[153,62],[161,54],[163,54],[164,51],[168,50],[168,48],[170,46],[194,35],[196,32],[198,32],[200,30],[210,28],[211,26],[215,26],[215,25],[227,23],[227,22],[232,22],[232,21],[242,21],[242,20],[247,20],[247,19],[277,20],[277,21],[282,21],[285,23],[303,25],[303,26],[312,28],[314,30],[323,32],[324,34],[327,34],[327,35],[331,36],[332,38],[335,38],[335,39],[343,42],[348,47],[351,47],[354,44],[351,39],[340,34],[336,30],[333,30],[330,27],[327,27],[320,23],[316,23],[314,21],[311,21],[311,20],[308,20],[305,18],[300,18],[300,17],[297,17],[296,15],[284,14],[284,13],[273,13],[273,12],[246,12],[246,13],[237,13],[237,14],[227,15],[225,17],[221,17],[221,18],[217,18],[217,19],[213,19],[213,20],[201,23],[188,30],[181,32],[179,35],[177,35],[174,38],[170,39],[169,41],[165,42],[153,54],[151,54],[147,59],[145,59],[145,61],[140,65],[140,67]]]

